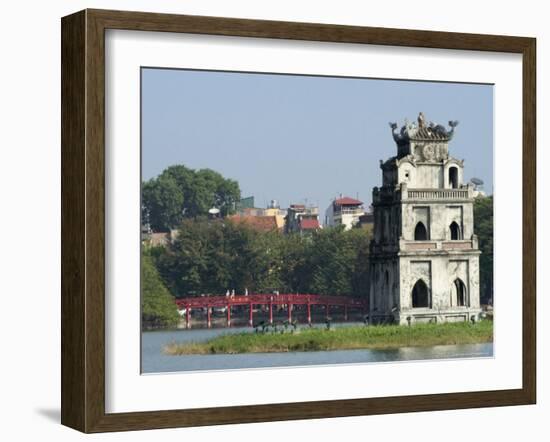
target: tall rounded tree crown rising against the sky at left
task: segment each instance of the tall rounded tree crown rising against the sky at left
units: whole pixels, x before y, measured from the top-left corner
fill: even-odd
[[[166,232],[184,218],[206,215],[213,207],[225,216],[234,210],[240,195],[239,184],[218,172],[170,166],[143,183],[142,220],[153,231]]]

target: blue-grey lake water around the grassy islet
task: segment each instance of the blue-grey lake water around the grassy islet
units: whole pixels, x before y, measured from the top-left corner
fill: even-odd
[[[362,324],[333,324],[334,327],[348,327],[353,325]],[[319,325],[318,327],[323,328],[324,326]],[[163,346],[171,342],[200,342],[222,334],[241,333],[243,331],[254,333],[254,329],[250,327],[143,332],[141,341],[142,373],[414,361],[423,359],[482,358],[493,356],[492,343],[403,347],[391,350],[365,349],[294,353],[245,353],[236,355],[168,356],[162,352]]]

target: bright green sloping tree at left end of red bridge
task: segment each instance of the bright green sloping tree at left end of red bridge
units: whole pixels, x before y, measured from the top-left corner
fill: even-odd
[[[141,261],[142,327],[168,327],[177,324],[179,315],[174,297],[164,286],[149,254]]]

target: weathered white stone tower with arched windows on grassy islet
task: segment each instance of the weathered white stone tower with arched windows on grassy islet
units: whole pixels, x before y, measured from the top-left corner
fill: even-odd
[[[449,155],[450,129],[391,123],[397,155],[380,161],[373,189],[370,246],[371,322],[475,321],[479,317],[479,255],[473,187],[464,162]]]

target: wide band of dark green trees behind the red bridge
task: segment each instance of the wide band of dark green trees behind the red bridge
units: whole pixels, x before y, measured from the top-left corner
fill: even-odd
[[[176,296],[245,289],[364,296],[369,241],[362,229],[284,235],[230,220],[186,219],[174,243],[155,260]]]

